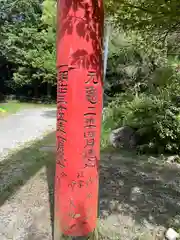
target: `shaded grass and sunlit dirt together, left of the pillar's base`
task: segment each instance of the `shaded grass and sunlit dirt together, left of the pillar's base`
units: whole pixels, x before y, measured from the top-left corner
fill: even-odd
[[[0,239],[52,239],[54,153],[51,133],[0,163]]]

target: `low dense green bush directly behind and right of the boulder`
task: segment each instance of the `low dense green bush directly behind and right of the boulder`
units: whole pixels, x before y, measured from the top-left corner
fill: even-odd
[[[171,86],[168,86],[168,93]],[[179,86],[180,88],[180,86]],[[109,132],[130,126],[141,136],[139,149],[155,152],[178,152],[180,148],[180,107],[172,94],[161,89],[158,95],[140,93],[126,99],[117,96],[108,106],[104,128]]]

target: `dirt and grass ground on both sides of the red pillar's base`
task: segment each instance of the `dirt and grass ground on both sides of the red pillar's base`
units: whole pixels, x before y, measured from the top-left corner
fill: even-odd
[[[0,165],[0,239],[51,240],[54,155],[46,140],[12,154]],[[130,153],[101,155],[101,239],[150,240],[179,226],[180,169]]]

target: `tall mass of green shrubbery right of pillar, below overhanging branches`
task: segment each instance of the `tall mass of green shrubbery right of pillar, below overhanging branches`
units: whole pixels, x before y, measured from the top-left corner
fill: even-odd
[[[180,148],[179,54],[171,54],[169,41],[168,46],[155,46],[155,36],[153,43],[133,32],[114,34],[117,37],[112,37],[109,46],[105,84],[105,93],[113,101],[108,104],[103,121],[102,146],[108,144],[112,129],[129,126],[140,135],[139,150],[177,153]]]

